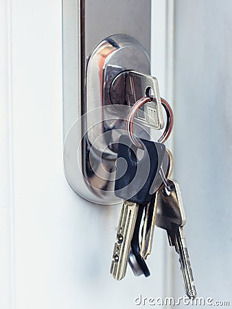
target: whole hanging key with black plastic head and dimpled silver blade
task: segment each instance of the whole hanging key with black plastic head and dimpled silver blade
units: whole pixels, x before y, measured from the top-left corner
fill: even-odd
[[[150,202],[150,188],[160,168],[165,146],[141,139],[144,146],[143,157],[137,158],[137,148],[127,135],[119,139],[115,195],[123,198],[117,239],[113,250],[111,274],[120,280],[126,275],[131,241],[139,207]],[[121,159],[121,160],[119,160]],[[139,222],[140,223],[140,222]],[[134,250],[134,255],[136,251]],[[137,258],[138,260],[138,256]],[[141,262],[141,260],[139,261]]]

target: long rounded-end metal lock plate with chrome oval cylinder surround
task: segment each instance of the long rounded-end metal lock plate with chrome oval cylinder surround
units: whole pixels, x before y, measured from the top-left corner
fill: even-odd
[[[76,32],[80,31],[79,36],[75,35],[75,29],[73,33],[68,32],[65,28],[67,23],[63,21],[64,168],[67,181],[75,192],[93,203],[108,205],[120,201],[114,194],[117,141],[126,130],[125,120],[131,104],[128,102],[132,102],[131,98],[126,104],[125,100],[115,102],[113,95],[117,96],[117,91],[112,90],[117,76],[123,72],[135,71],[147,76],[150,74],[149,56],[135,39],[139,38],[149,52],[150,1],[146,8],[142,8],[143,5],[139,1],[135,1],[133,8],[128,5],[128,0],[121,2],[120,5],[117,3],[115,14],[109,15],[110,19],[105,10],[104,1],[97,2],[97,5],[94,4],[95,2],[91,5],[89,2],[83,0],[78,5],[76,14],[79,19]],[[126,16],[123,16],[123,10],[120,9],[122,6],[125,7]],[[102,10],[103,7],[104,10]],[[71,20],[74,21],[73,27],[76,27],[75,12],[70,13],[73,8],[76,7],[69,7],[68,1],[63,1],[63,12],[66,14],[63,19],[67,18],[69,23]],[[128,15],[126,11],[128,8],[136,9],[137,12],[143,11],[146,24],[141,23],[141,26],[140,21],[130,18],[130,14]],[[99,14],[97,14],[98,11]],[[91,18],[91,14],[94,14],[94,19],[93,16]],[[118,32],[119,25],[123,25],[124,30],[135,38],[128,34],[115,34],[106,37],[93,48],[93,42],[101,35],[96,33],[95,27],[91,25],[93,21],[94,23],[98,21],[95,27],[100,27],[102,21],[109,22],[104,30],[102,28],[102,33]],[[95,33],[94,36],[93,33]],[[73,40],[79,40],[78,49],[73,44]],[[77,55],[73,54],[70,45],[74,50],[76,49]],[[93,49],[92,52],[91,49]],[[75,87],[78,88],[79,95]],[[77,108],[73,108],[73,102],[76,102]],[[70,119],[73,119],[75,114],[77,120],[71,126]],[[149,129],[144,126],[146,119],[139,117],[143,123],[143,126],[137,128],[141,130],[139,136],[147,138]],[[67,128],[70,126],[68,131]]]

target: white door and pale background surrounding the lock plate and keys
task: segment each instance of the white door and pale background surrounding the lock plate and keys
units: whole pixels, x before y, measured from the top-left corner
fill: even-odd
[[[152,0],[152,73],[175,102],[167,146],[196,288],[215,300],[229,300],[231,290],[230,11],[226,0]],[[178,257],[159,229],[152,275],[128,269],[115,282],[119,207],[84,201],[65,179],[61,1],[2,0],[0,14],[0,308],[126,309],[138,307],[139,295],[183,297]]]

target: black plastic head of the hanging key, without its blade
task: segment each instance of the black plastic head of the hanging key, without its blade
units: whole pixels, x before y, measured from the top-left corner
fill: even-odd
[[[150,189],[165,155],[163,144],[141,139],[143,157],[139,159],[138,148],[128,135],[119,139],[115,196],[134,203],[149,203]]]

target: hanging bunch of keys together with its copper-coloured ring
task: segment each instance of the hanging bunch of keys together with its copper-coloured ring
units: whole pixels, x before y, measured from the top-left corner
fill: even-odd
[[[136,111],[151,100],[150,97],[144,97],[135,103],[128,115],[128,135],[122,135],[119,139],[115,195],[124,201],[113,249],[111,274],[117,280],[123,279],[130,264],[135,275],[150,275],[146,259],[152,251],[156,225],[167,231],[170,246],[174,246],[179,255],[185,293],[194,299],[196,288],[183,231],[185,210],[180,187],[177,181],[170,178],[173,170],[172,153],[163,144],[172,131],[172,108],[161,99],[167,113],[167,124],[158,141],[138,141],[132,130]],[[140,160],[137,158],[139,148],[143,149]]]

